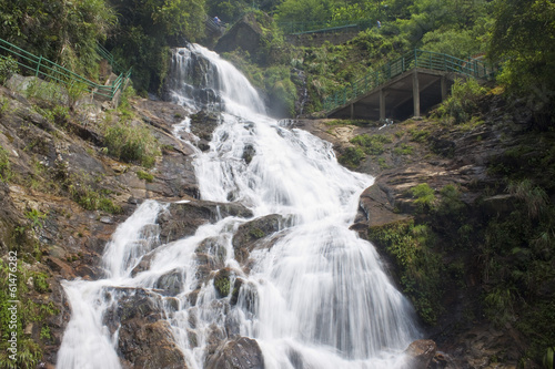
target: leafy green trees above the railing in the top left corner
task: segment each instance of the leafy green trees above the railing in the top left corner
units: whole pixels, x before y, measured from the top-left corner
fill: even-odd
[[[0,2],[4,40],[90,78],[98,70],[97,42],[115,20],[104,0]]]

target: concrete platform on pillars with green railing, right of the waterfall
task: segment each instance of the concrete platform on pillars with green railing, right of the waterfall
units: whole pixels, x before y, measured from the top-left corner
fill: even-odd
[[[324,101],[329,117],[406,119],[442,102],[456,78],[488,79],[484,61],[414,50],[366,74]]]

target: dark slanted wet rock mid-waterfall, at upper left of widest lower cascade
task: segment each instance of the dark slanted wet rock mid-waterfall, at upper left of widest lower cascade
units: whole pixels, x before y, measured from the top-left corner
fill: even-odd
[[[279,214],[270,214],[241,225],[233,236],[235,259],[243,264],[259,242],[287,226],[286,218]]]

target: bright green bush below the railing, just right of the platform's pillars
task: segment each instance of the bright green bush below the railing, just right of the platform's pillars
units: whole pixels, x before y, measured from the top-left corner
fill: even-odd
[[[485,89],[474,79],[466,82],[456,80],[448,96],[437,109],[437,113],[447,124],[467,122],[476,113],[477,101],[485,95]]]

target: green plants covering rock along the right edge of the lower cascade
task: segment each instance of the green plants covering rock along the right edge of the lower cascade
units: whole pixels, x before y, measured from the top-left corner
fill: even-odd
[[[432,250],[433,232],[413,221],[372,227],[369,238],[385,247],[398,266],[403,290],[414,304],[416,312],[428,325],[436,322],[441,311],[442,263]]]

